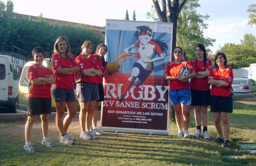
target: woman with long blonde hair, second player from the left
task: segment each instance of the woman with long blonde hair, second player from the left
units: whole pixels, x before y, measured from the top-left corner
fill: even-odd
[[[57,38],[54,44],[54,55],[52,55],[52,66],[54,68],[55,83],[52,95],[56,108],[56,125],[59,130],[59,140],[62,144],[74,144],[74,137],[67,131],[68,126],[76,116],[76,96],[74,95],[74,72],[79,71],[71,47],[65,36]],[[65,106],[68,114],[64,118]]]

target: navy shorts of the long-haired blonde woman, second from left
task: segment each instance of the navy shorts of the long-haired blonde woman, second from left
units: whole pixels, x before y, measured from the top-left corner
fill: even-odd
[[[53,86],[52,95],[55,102],[74,102],[76,96],[74,95],[74,89],[64,89]]]

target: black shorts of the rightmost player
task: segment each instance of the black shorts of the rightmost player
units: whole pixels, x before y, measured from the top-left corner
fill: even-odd
[[[233,99],[230,94],[228,97],[211,95],[211,112],[233,112]]]

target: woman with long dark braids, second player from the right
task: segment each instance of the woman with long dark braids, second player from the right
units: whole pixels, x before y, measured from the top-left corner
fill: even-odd
[[[207,83],[207,77],[210,75],[212,69],[212,61],[207,60],[206,50],[203,44],[196,44],[194,50],[196,52],[196,58],[190,61],[190,65],[196,70],[196,77],[192,78],[190,82],[191,105],[194,106],[194,119],[196,120],[196,133],[194,137],[210,139],[207,131],[207,106],[210,105],[210,85]],[[204,125],[202,134],[201,119]]]

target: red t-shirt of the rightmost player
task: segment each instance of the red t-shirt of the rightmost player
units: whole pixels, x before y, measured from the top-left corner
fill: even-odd
[[[218,86],[212,86],[211,95],[220,95],[222,97],[229,96],[232,91],[230,89],[232,82],[233,82],[233,71],[232,68],[226,67],[226,70],[219,71],[218,68],[214,67],[212,69],[212,72],[210,74],[210,77],[213,77],[215,80],[222,80],[229,83],[229,86],[226,87],[218,87]],[[210,77],[208,77],[208,80],[210,80]]]

